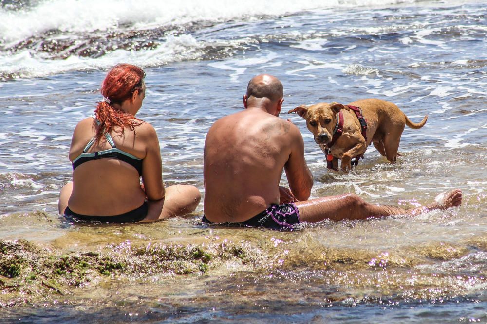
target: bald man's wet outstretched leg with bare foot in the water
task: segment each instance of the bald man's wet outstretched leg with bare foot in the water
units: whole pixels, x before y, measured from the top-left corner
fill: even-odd
[[[323,197],[304,202],[297,202],[301,222],[319,222],[325,219],[339,221],[343,219],[361,220],[369,217],[392,215],[418,215],[434,209],[447,209],[462,203],[462,190],[454,189],[442,194],[440,201],[430,205],[403,209],[389,205],[375,205],[364,201],[355,194]],[[439,196],[438,196],[439,197]]]

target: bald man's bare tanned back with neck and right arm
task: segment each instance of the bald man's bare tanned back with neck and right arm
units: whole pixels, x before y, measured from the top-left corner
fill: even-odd
[[[218,120],[208,131],[204,206],[209,221],[244,222],[279,204],[283,169],[296,178],[290,185],[297,198],[309,197],[313,182],[302,136],[294,124],[275,116],[281,104],[282,93],[274,101],[246,96],[244,111]],[[300,157],[298,163],[292,164],[291,154]]]

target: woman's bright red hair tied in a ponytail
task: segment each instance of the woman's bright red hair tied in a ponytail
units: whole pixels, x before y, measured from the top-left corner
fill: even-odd
[[[96,132],[96,141],[104,135],[110,133],[115,126],[121,127],[121,134],[125,127],[131,131],[134,127],[141,124],[140,119],[124,112],[113,106],[114,103],[122,104],[127,99],[131,99],[135,90],[139,92],[143,88],[146,73],[139,67],[131,64],[120,63],[115,65],[101,84],[101,94],[108,100],[98,102],[94,113],[96,119],[101,124]]]

